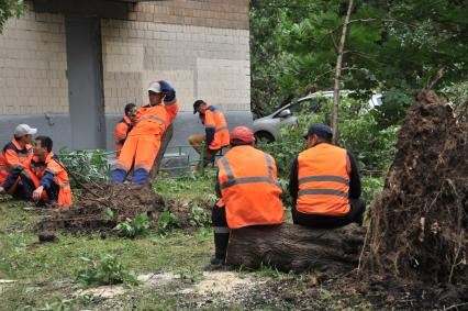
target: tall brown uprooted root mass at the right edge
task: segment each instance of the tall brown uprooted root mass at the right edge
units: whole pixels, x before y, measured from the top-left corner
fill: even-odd
[[[433,91],[409,110],[381,197],[370,210],[365,271],[468,282],[468,126]]]

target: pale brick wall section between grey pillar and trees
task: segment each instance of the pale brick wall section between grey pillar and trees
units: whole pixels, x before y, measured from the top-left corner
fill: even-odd
[[[158,79],[176,87],[182,111],[198,98],[249,110],[247,30],[119,20],[102,20],[101,27],[107,113],[146,103],[145,89]]]

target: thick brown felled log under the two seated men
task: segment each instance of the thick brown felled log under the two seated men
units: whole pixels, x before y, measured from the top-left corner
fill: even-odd
[[[357,267],[365,229],[348,224],[339,229],[281,225],[247,226],[231,231],[226,264],[280,271],[320,270],[346,273]]]

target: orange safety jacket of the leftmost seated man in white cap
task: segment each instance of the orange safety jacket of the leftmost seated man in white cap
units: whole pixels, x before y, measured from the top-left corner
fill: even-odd
[[[3,186],[8,176],[10,175],[11,169],[21,167],[22,173],[27,178],[31,179],[30,164],[33,158],[33,147],[30,144],[26,144],[24,148],[21,148],[21,145],[16,140],[12,140],[7,145],[4,145],[2,152],[0,153],[0,186]],[[9,193],[13,193],[14,189],[19,182],[19,179],[13,187],[9,190]]]

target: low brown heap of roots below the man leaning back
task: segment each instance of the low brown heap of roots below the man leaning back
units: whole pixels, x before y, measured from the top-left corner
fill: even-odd
[[[194,203],[208,213],[207,202],[198,199]],[[73,207],[49,214],[37,223],[36,230],[63,230],[70,233],[112,232],[119,223],[134,221],[141,214],[146,214],[151,227],[155,227],[159,214],[166,210],[175,215],[175,226],[189,229],[190,209],[190,203],[165,201],[151,186],[92,184],[86,185]]]

